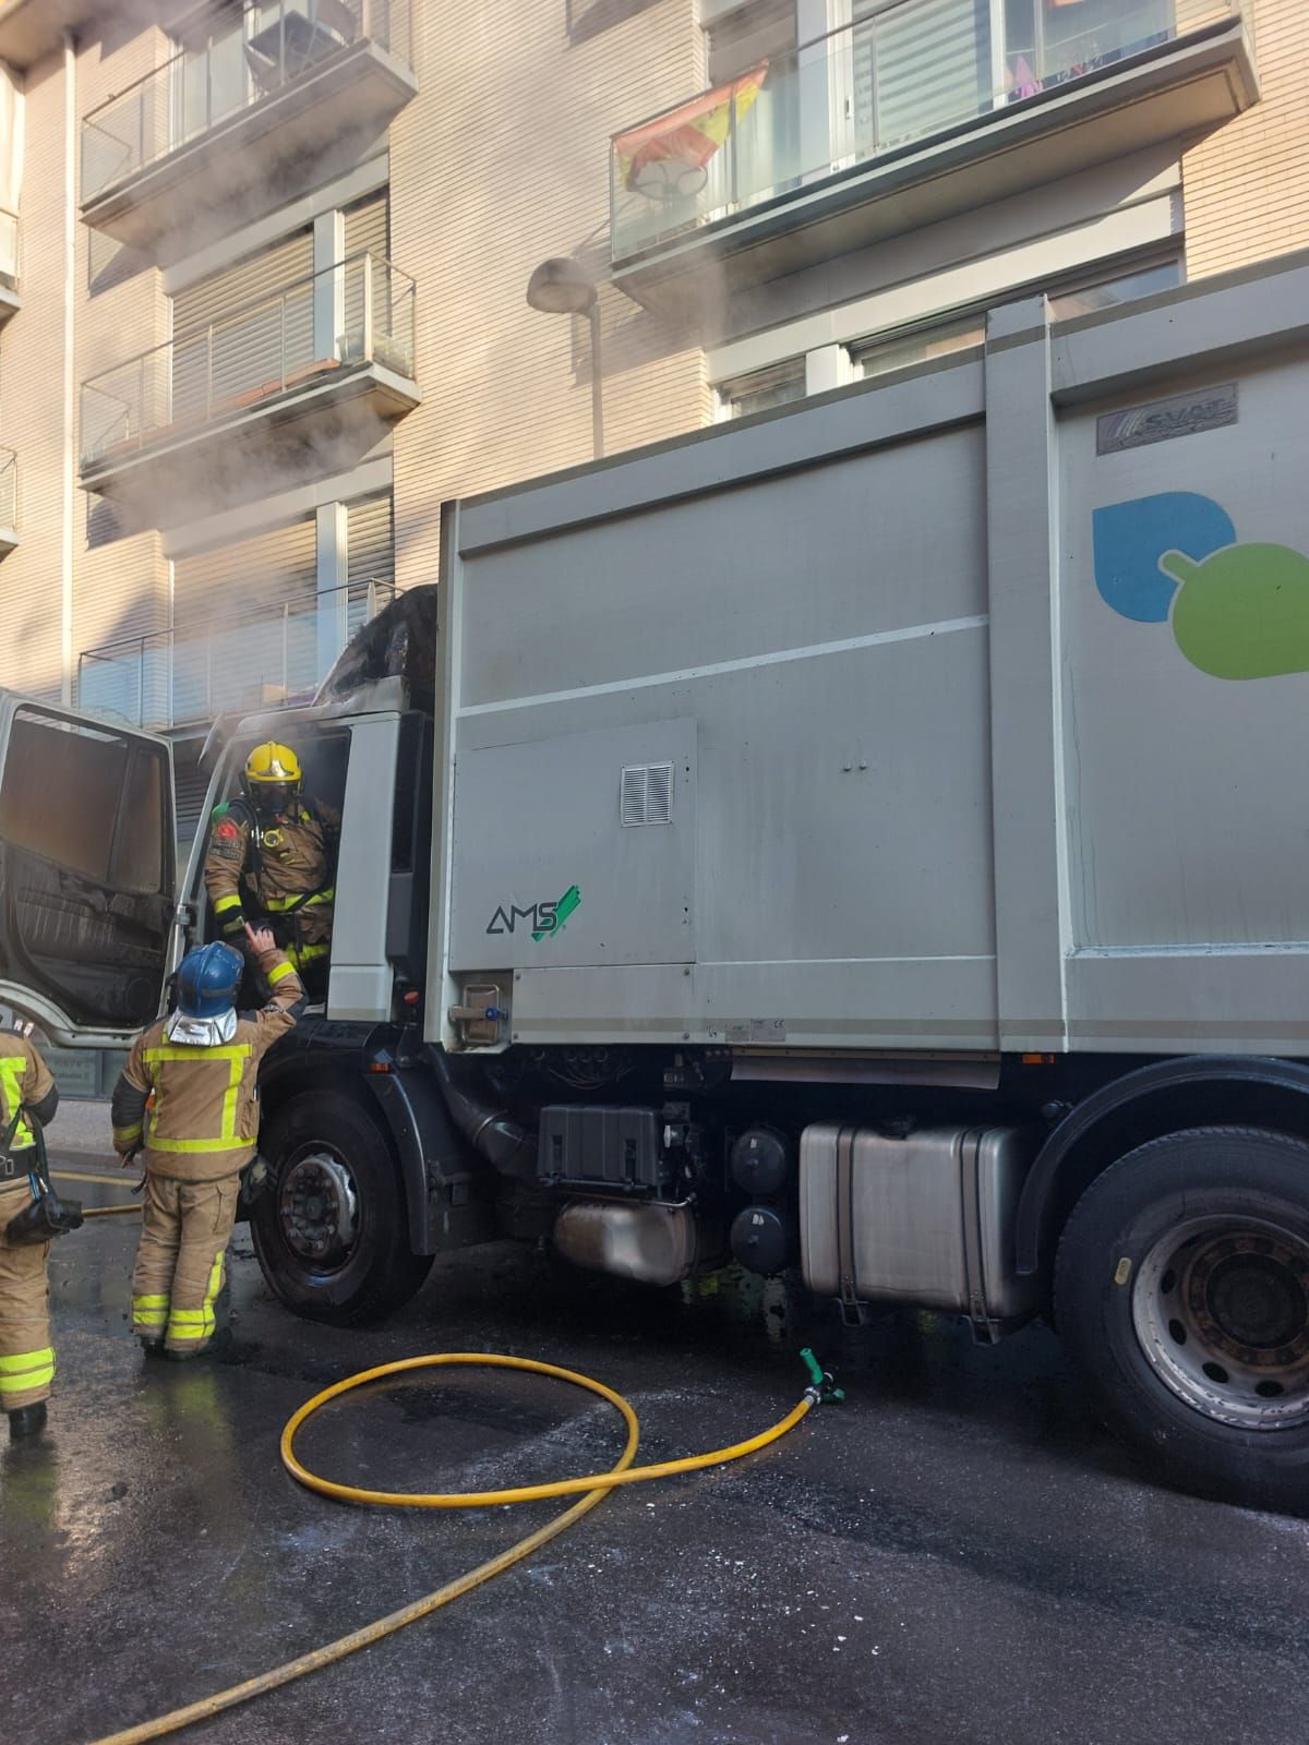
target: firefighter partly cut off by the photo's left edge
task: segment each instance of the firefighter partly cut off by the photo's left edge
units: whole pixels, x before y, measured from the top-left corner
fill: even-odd
[[[0,1030],[0,1405],[9,1434],[37,1436],[54,1380],[49,1242],[12,1242],[9,1222],[31,1206],[35,1138],[28,1113],[49,1124],[59,1105],[51,1070],[26,1037]]]

